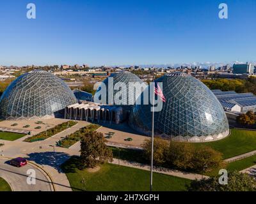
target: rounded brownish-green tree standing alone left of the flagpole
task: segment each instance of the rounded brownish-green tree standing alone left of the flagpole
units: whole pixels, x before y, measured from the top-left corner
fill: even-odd
[[[81,136],[81,167],[94,168],[106,161],[113,161],[112,151],[105,144],[102,133],[90,131]]]

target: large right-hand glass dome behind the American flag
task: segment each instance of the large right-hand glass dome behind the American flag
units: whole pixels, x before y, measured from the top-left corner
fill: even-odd
[[[184,73],[172,73],[159,78],[163,82],[161,112],[155,112],[154,131],[174,140],[207,142],[228,135],[228,120],[214,94],[202,82]],[[132,128],[151,134],[151,105],[135,105],[130,115]]]

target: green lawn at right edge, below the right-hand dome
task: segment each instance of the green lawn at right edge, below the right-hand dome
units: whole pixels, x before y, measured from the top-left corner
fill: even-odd
[[[193,143],[197,147],[207,145],[221,152],[224,159],[256,150],[256,131],[242,129],[230,129],[231,134],[227,138],[216,142]]]

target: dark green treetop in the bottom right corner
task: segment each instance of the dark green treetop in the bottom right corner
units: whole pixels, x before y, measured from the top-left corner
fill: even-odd
[[[193,180],[188,191],[256,191],[256,180],[246,174],[234,171],[228,174],[228,184],[219,184],[219,177]]]

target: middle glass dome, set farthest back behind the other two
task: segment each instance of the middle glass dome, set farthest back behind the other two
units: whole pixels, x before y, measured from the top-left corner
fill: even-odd
[[[113,85],[109,87],[109,78],[113,78]],[[115,85],[118,82],[124,83],[124,87],[122,89],[114,90]],[[129,83],[133,84],[138,82],[139,84],[143,84],[144,82],[136,75],[129,71],[120,71],[118,73],[112,73],[108,78],[106,78],[102,83],[106,85],[106,104],[109,103],[109,96],[112,96],[113,103],[115,105],[134,105],[136,102],[136,99],[141,94],[141,89],[131,89],[129,90]],[[102,88],[101,85],[99,85],[99,88],[97,89],[96,94],[99,94],[100,89]],[[120,104],[115,103],[115,95],[117,92],[123,92],[126,96],[125,98],[120,97]]]

